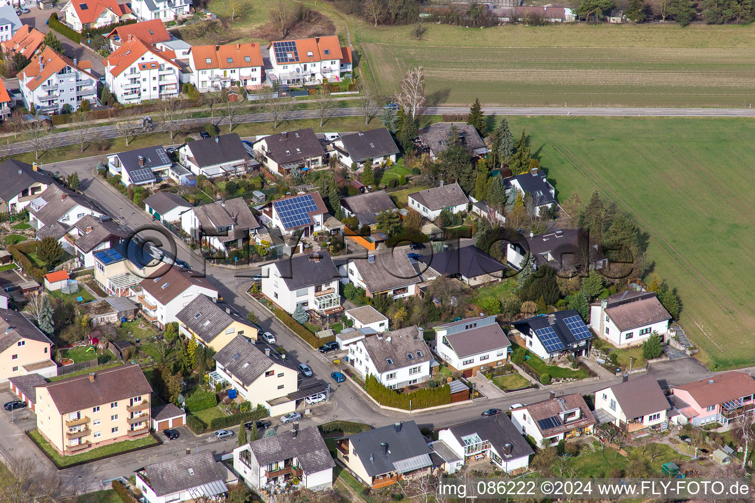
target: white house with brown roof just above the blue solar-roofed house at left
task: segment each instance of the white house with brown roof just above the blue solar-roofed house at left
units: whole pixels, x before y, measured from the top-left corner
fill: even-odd
[[[109,217],[87,215],[71,225],[59,241],[63,250],[79,259],[82,266],[93,268],[94,253],[116,247],[132,235],[131,229],[118,225]]]

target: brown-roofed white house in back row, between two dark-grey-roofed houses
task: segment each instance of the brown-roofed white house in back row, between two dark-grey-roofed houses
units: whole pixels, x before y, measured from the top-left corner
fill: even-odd
[[[303,171],[320,167],[325,149],[311,127],[264,136],[253,143],[260,160],[274,175],[286,176],[292,169]]]

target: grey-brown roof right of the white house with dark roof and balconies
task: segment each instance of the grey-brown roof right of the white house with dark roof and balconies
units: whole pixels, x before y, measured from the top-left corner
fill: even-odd
[[[393,253],[394,251],[396,253]],[[362,281],[373,294],[406,287],[421,281],[406,253],[398,249],[390,248],[375,253],[373,262],[369,259],[360,259],[349,263],[356,267],[359,275],[362,276]]]

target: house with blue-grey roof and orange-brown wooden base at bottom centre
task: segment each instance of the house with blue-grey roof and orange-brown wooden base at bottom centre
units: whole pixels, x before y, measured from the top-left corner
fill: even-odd
[[[430,474],[430,447],[414,421],[397,422],[336,440],[338,461],[372,489]]]

